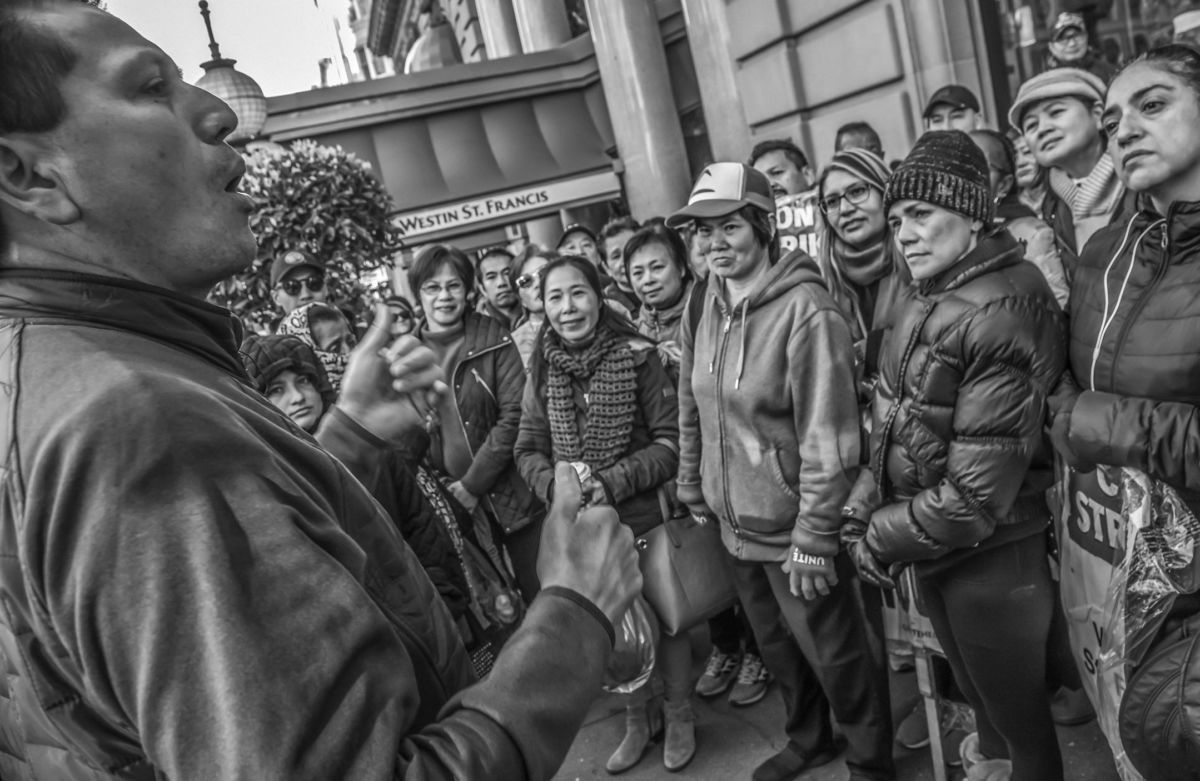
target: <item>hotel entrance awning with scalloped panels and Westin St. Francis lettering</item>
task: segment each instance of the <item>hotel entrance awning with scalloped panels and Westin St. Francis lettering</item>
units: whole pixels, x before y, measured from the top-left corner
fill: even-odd
[[[271,98],[265,133],[370,162],[426,244],[620,192],[592,43]]]

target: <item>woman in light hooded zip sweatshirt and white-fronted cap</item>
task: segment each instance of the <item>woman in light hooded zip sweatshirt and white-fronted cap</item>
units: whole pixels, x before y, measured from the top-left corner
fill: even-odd
[[[700,319],[682,329],[679,499],[720,519],[784,690],[788,743],[755,781],[834,759],[830,709],[851,777],[892,779],[887,685],[839,542],[860,463],[851,332],[812,259],[779,260],[773,214],[763,174],[714,163],[668,220],[695,222],[710,269]]]

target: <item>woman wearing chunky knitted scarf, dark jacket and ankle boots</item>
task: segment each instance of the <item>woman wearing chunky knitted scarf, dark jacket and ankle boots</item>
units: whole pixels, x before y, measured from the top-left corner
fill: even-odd
[[[641,336],[604,298],[595,265],[566,256],[542,269],[546,320],[529,365],[516,458],[542,501],[554,491],[554,464],[586,468],[590,504],[617,509],[622,523],[642,535],[676,505],[668,483],[679,464],[679,407],[654,343]],[[606,769],[622,773],[641,759],[662,729],[662,763],[678,770],[696,751],[689,702],[691,644],[685,632],[662,635],[655,666],[666,687],[662,714],[649,686],[628,702],[625,737]]]

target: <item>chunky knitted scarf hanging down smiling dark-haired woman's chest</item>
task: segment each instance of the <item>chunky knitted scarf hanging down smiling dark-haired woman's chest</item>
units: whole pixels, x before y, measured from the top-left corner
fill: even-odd
[[[592,344],[568,349],[558,334],[546,330],[546,417],[557,458],[582,461],[605,469],[620,459],[634,432],[637,377],[629,342],[601,325]],[[588,383],[586,429],[580,435],[574,380]]]

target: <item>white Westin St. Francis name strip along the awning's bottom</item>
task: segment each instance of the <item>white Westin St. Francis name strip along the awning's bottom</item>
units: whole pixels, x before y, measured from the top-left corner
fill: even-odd
[[[403,232],[406,239],[413,239],[463,228],[481,228],[485,223],[516,222],[528,218],[532,212],[599,200],[619,193],[620,182],[617,175],[605,170],[472,200],[442,204],[421,211],[409,211],[392,216],[391,221]]]

